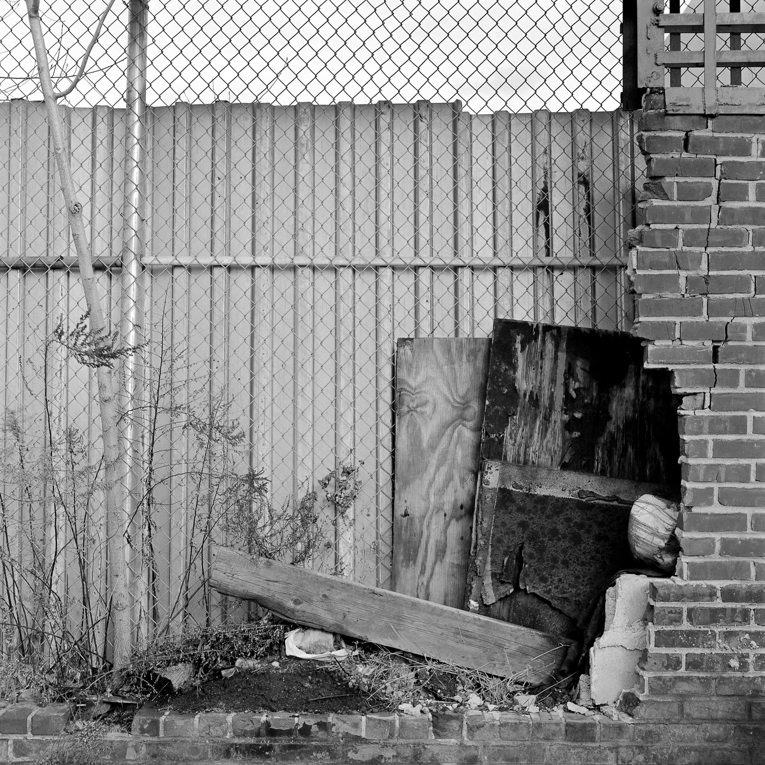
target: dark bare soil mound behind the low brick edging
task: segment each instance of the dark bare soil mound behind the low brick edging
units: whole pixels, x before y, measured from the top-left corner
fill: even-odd
[[[282,659],[251,672],[236,672],[200,688],[163,694],[154,703],[180,712],[355,712],[371,711],[366,694],[350,688],[336,665]]]

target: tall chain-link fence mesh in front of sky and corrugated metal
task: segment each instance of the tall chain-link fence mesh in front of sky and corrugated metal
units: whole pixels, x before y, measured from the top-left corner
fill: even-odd
[[[60,103],[108,313],[147,343],[120,370],[137,639],[242,615],[210,540],[305,549],[311,514],[315,565],[389,586],[396,338],[630,328],[621,5],[130,0],[84,67],[106,4],[41,8],[57,88],[83,68]],[[97,653],[95,382],[50,340],[84,308],[25,13],[0,20],[3,555],[49,551]]]

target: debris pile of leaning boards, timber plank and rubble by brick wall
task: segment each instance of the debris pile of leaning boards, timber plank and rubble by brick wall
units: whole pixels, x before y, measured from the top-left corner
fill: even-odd
[[[226,548],[213,588],[311,628],[287,653],[342,663],[407,715],[590,715],[608,588],[667,575],[679,549],[669,373],[644,369],[629,334],[506,320],[492,340],[399,340],[398,354],[393,591]]]

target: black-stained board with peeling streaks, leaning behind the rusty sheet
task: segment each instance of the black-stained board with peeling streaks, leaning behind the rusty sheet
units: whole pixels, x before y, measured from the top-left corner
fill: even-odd
[[[497,319],[482,456],[676,486],[678,405],[640,338]]]

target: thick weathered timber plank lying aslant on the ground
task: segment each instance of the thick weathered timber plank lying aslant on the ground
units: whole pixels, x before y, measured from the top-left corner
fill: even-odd
[[[213,549],[210,584],[278,616],[492,675],[546,682],[571,640],[286,563]]]

